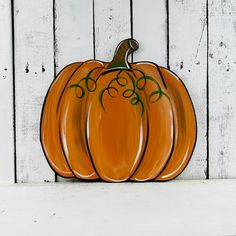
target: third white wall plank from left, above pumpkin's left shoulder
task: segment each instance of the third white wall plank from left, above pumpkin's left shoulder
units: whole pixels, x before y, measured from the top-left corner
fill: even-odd
[[[72,62],[93,59],[93,1],[56,0],[55,13],[55,60],[59,73]],[[65,180],[58,176],[59,182]]]

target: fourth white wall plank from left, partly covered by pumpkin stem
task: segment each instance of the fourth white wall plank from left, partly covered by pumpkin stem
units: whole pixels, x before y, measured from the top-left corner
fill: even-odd
[[[130,0],[95,0],[95,56],[111,61],[117,44],[131,37]]]

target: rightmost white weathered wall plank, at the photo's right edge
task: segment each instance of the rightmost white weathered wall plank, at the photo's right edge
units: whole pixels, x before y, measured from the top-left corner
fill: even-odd
[[[236,177],[236,1],[209,1],[210,178]]]

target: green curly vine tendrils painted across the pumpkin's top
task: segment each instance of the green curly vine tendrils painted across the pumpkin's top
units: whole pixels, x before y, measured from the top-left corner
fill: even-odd
[[[69,88],[75,89],[75,94],[77,98],[79,99],[83,98],[85,96],[85,92],[86,92],[85,90],[92,93],[97,89],[98,79],[94,80],[93,78],[91,78],[91,74],[93,73],[93,71],[99,68],[102,68],[102,67],[96,67],[92,69],[87,74],[87,76],[79,80],[76,84],[72,84],[69,86]],[[116,96],[118,96],[119,90],[116,87],[114,87],[114,85],[117,84],[118,86],[125,88],[126,86],[128,86],[129,81],[131,82],[131,88],[129,87],[125,89],[122,92],[122,96],[126,99],[130,99],[131,105],[134,105],[134,106],[141,105],[142,114],[144,112],[144,103],[142,99],[140,98],[138,91],[144,91],[148,81],[154,83],[157,88],[149,95],[150,102],[157,102],[163,95],[169,99],[169,96],[165,92],[162,91],[161,86],[156,80],[154,80],[151,76],[145,75],[145,73],[139,69],[133,69],[133,70],[140,72],[142,76],[139,77],[138,79],[135,79],[134,76],[130,73],[132,72],[132,70],[124,69],[124,68],[118,69],[117,76],[109,82],[106,88],[101,90],[99,94],[99,101],[104,110],[105,110],[105,106],[103,104],[104,94],[107,93],[111,98],[115,98]],[[128,75],[128,78],[124,76],[120,76],[122,72],[125,72],[126,75]],[[85,87],[83,87],[82,85],[83,82],[84,82]]]

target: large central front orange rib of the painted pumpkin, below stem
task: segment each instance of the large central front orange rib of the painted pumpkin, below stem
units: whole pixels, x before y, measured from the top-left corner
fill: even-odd
[[[115,111],[115,110],[113,110],[115,104],[117,104],[119,106],[120,102],[116,103],[117,100],[114,100],[115,103],[113,104],[113,101],[110,100],[112,98],[109,98],[109,95],[107,94],[106,95],[106,102],[105,102],[106,111],[104,111],[101,104],[99,104],[99,101],[97,100],[97,96],[100,93],[100,89],[106,88],[109,85],[110,81],[113,78],[116,78],[117,70],[111,71],[111,74],[106,73],[104,76],[105,77],[101,78],[101,81],[98,84],[98,91],[95,92],[95,94],[91,95],[91,97],[90,97],[91,102],[92,102],[91,103],[92,104],[91,111],[93,111],[93,113],[91,113],[91,117],[87,117],[88,122],[90,123],[91,126],[90,126],[89,130],[86,130],[86,132],[87,133],[89,132],[91,135],[91,138],[88,140],[88,144],[89,144],[88,146],[89,146],[89,149],[91,152],[90,158],[92,159],[92,162],[94,163],[94,166],[95,166],[97,172],[99,173],[99,176],[104,181],[106,181],[106,182],[127,181],[129,179],[130,175],[132,175],[133,172],[136,170],[137,165],[139,164],[141,156],[142,156],[144,144],[146,141],[146,124],[145,124],[146,122],[143,123],[144,120],[142,121],[142,117],[140,114],[141,107],[131,106],[129,99],[127,101],[125,101],[126,99],[122,98],[122,91],[125,90],[125,88],[119,87],[119,84],[117,86],[121,90],[120,90],[120,94],[117,96],[118,97],[117,99],[121,99],[120,102],[124,99],[123,101],[124,101],[124,105],[126,104],[125,105],[126,108],[123,107],[123,109],[125,109],[125,110],[122,110],[122,107],[120,107],[119,109],[121,109],[121,110],[119,110],[119,112],[121,112],[121,113],[119,113],[119,114],[116,113],[116,115],[113,116],[112,115],[113,113],[110,113],[110,112]],[[121,74],[121,76],[122,76],[122,74]],[[129,80],[128,86],[132,87],[132,81],[129,79],[128,75],[126,75],[124,73],[124,77],[127,77],[127,79]],[[107,109],[109,110],[109,113],[107,113]],[[110,109],[112,109],[112,110],[110,110]],[[135,112],[135,113],[133,114],[133,112]],[[100,126],[99,127],[96,125],[96,120],[97,120],[97,117],[100,117],[100,114],[102,114],[102,117],[104,119],[99,118],[99,120],[100,119],[103,120],[101,123],[101,126],[99,124],[99,126]],[[132,133],[130,133],[128,137],[124,136],[125,133],[123,133],[123,138],[121,138],[121,133],[116,129],[117,130],[116,132],[118,132],[117,134],[119,135],[118,137],[120,140],[123,139],[123,142],[125,142],[124,139],[127,138],[128,143],[134,145],[133,147],[135,147],[135,149],[130,150],[130,152],[129,152],[129,149],[127,149],[126,145],[119,147],[119,148],[121,148],[121,149],[119,149],[120,152],[116,152],[114,149],[114,147],[116,145],[119,145],[119,144],[123,145],[122,142],[115,144],[115,140],[116,140],[114,138],[115,133],[113,133],[113,128],[112,128],[112,127],[117,127],[116,123],[121,124],[119,117],[120,116],[123,117],[123,115],[125,117],[127,116],[127,118],[129,117],[128,118],[129,122],[132,122],[132,120],[130,120],[130,119],[133,117],[135,119],[134,124],[141,125],[142,128],[144,129],[144,132],[141,134],[137,130],[137,128],[135,128],[134,125],[130,126],[130,131],[132,130],[131,131],[132,133],[133,133],[133,131],[135,131],[135,133],[139,133],[142,136],[142,139],[141,139],[141,136],[140,136],[140,139],[137,138],[138,136],[135,136],[134,142],[132,141],[132,139],[129,139],[129,137],[132,136]],[[108,120],[105,121],[105,119],[108,119]],[[126,120],[126,121],[128,121],[128,120]],[[108,128],[106,122],[109,122],[110,128]],[[115,122],[115,123],[113,123],[113,122]],[[122,123],[122,124],[125,124],[125,123]],[[126,124],[128,124],[128,123],[126,123]],[[125,126],[121,125],[120,127],[124,128],[124,127],[126,127],[126,125]],[[102,132],[104,134],[103,131],[107,132],[108,136],[106,135],[106,137],[107,138],[111,137],[111,140],[113,140],[113,141],[110,142],[109,138],[104,139],[105,136],[100,136],[99,133]],[[127,133],[127,135],[128,135],[128,133]],[[110,144],[111,144],[111,146],[110,146]],[[111,148],[109,148],[109,147],[111,147]],[[138,151],[138,147],[140,147],[140,149],[139,149],[140,151]],[[105,151],[107,148],[109,150],[108,152]],[[103,155],[104,155],[104,158],[103,158]],[[131,155],[131,156],[129,157],[129,155]],[[109,167],[108,163],[110,163],[110,162],[113,164],[111,164],[111,166]],[[128,166],[127,165],[126,165],[126,167],[124,166],[125,169],[119,169],[123,165],[122,163],[125,163],[125,162],[127,162]],[[117,166],[115,163],[117,164]]]

